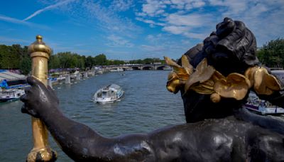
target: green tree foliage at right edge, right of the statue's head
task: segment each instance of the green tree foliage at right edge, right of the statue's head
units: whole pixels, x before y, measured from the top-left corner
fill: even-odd
[[[284,65],[284,39],[269,41],[257,52],[258,59],[271,68],[283,68]]]

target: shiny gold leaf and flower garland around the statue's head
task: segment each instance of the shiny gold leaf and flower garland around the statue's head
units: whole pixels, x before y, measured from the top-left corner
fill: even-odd
[[[225,77],[211,65],[207,65],[206,58],[195,69],[190,65],[186,55],[182,55],[182,66],[167,57],[165,62],[173,67],[167,82],[167,89],[173,93],[184,87],[185,93],[193,90],[202,95],[210,95],[212,102],[217,103],[221,97],[244,99],[251,87],[258,95],[271,95],[280,90],[276,77],[268,74],[263,67],[251,67],[244,75],[233,72]]]

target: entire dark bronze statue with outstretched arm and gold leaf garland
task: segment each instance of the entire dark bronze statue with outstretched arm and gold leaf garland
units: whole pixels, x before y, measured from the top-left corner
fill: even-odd
[[[180,65],[166,58],[174,68],[167,87],[180,90],[187,124],[105,138],[65,117],[53,90],[34,77],[27,78],[21,110],[41,119],[75,161],[284,161],[284,122],[242,108],[249,90],[284,104],[277,80],[258,67],[255,48],[244,23],[224,18]]]

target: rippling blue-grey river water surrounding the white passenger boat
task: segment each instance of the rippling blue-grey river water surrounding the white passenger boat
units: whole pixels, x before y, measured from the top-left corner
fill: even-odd
[[[103,136],[146,133],[162,126],[185,123],[180,94],[173,95],[165,85],[169,71],[135,70],[109,72],[72,85],[55,85],[60,109]],[[125,91],[120,102],[96,104],[92,95],[109,84]],[[22,102],[0,104],[0,161],[26,161],[33,148],[31,117],[21,114]],[[58,152],[58,161],[72,161],[50,137],[50,146]]]

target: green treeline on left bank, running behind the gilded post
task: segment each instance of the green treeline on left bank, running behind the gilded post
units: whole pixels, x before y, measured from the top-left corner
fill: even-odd
[[[48,69],[80,68],[80,70],[91,69],[97,65],[121,65],[125,63],[165,63],[159,58],[146,58],[139,60],[108,60],[102,54],[92,56],[80,55],[78,53],[60,52],[50,55]],[[19,69],[24,75],[31,71],[31,57],[28,54],[28,46],[21,45],[0,45],[0,69],[16,70]]]

